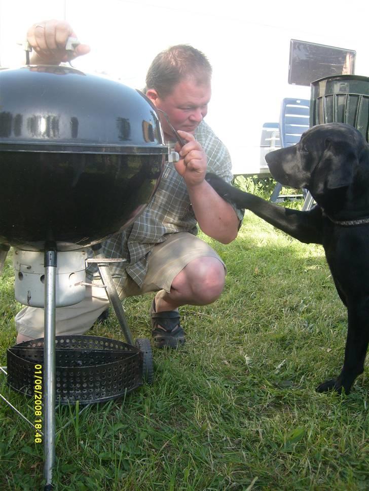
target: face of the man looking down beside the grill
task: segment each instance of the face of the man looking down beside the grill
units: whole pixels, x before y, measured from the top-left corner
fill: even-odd
[[[176,130],[194,133],[200,122],[207,114],[207,105],[211,97],[210,81],[197,84],[195,78],[181,80],[171,94],[163,99],[153,89],[147,91],[149,97],[158,109],[166,112],[169,121]],[[173,139],[173,132],[164,117],[161,117],[165,135]]]

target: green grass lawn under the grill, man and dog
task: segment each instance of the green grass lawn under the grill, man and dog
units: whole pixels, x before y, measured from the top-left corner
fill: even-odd
[[[57,408],[56,488],[368,489],[367,365],[348,396],[314,390],[338,374],[347,332],[322,248],[249,212],[232,244],[206,240],[227,264],[222,297],[181,309],[187,343],[154,350],[153,385],[88,406],[78,419],[75,406]],[[10,258],[0,296],[5,365],[20,308]],[[152,298],[125,303],[134,337],[150,337]],[[90,334],[123,339],[113,315]],[[32,420],[31,401],[0,380]],[[0,489],[40,489],[42,445],[1,401],[0,423]]]

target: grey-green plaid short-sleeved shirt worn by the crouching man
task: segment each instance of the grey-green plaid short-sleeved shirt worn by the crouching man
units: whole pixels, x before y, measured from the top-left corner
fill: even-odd
[[[228,182],[233,179],[231,157],[225,145],[202,121],[194,136],[207,155],[207,169]],[[235,211],[240,220],[243,210]],[[110,263],[117,287],[123,287],[128,274],[141,287],[147,271],[147,258],[155,244],[164,242],[166,234],[198,233],[185,181],[174,166],[166,163],[158,189],[144,212],[123,232],[102,243],[106,258],[125,258],[126,263]],[[89,268],[98,277],[95,266]]]

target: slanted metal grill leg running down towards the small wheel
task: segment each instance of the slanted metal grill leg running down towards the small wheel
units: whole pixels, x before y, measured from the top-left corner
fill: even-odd
[[[94,252],[94,256],[96,259],[101,259],[101,263],[97,263],[97,267],[99,269],[99,273],[102,279],[103,284],[105,285],[106,288],[106,295],[107,298],[109,299],[110,303],[112,304],[114,311],[116,313],[118,322],[121,326],[121,329],[123,331],[124,337],[126,338],[126,341],[128,344],[134,346],[134,341],[131,335],[131,331],[128,326],[128,322],[122,307],[122,302],[119,298],[117,289],[115,287],[115,283],[113,280],[112,273],[110,272],[109,265],[105,262],[104,263],[104,256],[98,252],[101,249],[101,246],[93,246],[92,250]],[[106,261],[106,260],[105,260]]]

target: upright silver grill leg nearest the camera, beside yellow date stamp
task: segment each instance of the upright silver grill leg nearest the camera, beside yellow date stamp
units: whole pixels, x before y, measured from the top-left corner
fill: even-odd
[[[45,491],[52,489],[55,462],[55,244],[45,245],[45,345],[44,345],[44,477]]]

